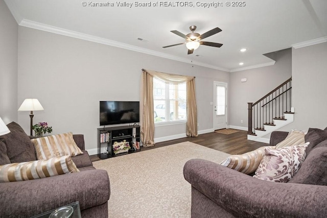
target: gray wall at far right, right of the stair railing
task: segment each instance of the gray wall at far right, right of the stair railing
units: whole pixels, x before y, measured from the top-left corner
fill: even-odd
[[[281,130],[327,127],[327,42],[292,50],[294,122]]]

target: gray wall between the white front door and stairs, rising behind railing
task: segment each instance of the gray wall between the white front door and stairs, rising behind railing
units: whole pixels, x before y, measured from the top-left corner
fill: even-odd
[[[292,76],[292,50],[276,53],[272,66],[242,70],[230,73],[230,116],[229,125],[247,129],[248,102],[256,102],[269,91]],[[247,78],[247,82],[241,82]],[[243,120],[243,123],[241,123]]]

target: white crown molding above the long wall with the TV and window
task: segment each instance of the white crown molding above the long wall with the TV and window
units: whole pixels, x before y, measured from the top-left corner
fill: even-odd
[[[86,41],[100,43],[100,44],[110,45],[110,46],[114,46],[114,47],[120,47],[121,49],[131,50],[134,52],[144,53],[144,54],[153,55],[153,56],[157,56],[157,57],[161,57],[161,58],[171,59],[171,60],[175,60],[175,61],[180,61],[180,62],[184,62],[184,63],[194,64],[194,65],[198,65],[198,66],[203,66],[203,67],[207,67],[207,68],[218,69],[218,70],[229,72],[229,69],[224,69],[224,68],[206,64],[203,62],[191,61],[186,58],[180,58],[177,56],[168,55],[165,53],[156,52],[156,51],[149,50],[149,49],[143,49],[142,47],[138,47],[138,46],[122,43],[122,42],[117,42],[117,41],[113,41],[110,39],[105,39],[105,38],[92,36],[92,35],[88,35],[88,34],[84,34],[84,33],[79,33],[79,32],[75,32],[75,31],[63,29],[63,28],[45,25],[44,23],[39,23],[39,22],[27,20],[27,19],[22,19],[19,23],[19,26],[28,27],[28,28],[41,30],[41,31],[45,31],[45,32],[50,32],[50,33],[55,33],[55,34],[59,34],[59,35],[69,36],[69,37],[78,38],[78,39],[82,39],[82,40],[86,40]]]

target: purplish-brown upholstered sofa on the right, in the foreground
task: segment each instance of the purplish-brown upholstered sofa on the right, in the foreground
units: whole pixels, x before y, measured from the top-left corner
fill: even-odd
[[[270,146],[288,136],[272,132]],[[310,128],[306,159],[287,183],[264,181],[235,169],[192,159],[184,178],[192,185],[192,217],[326,217],[327,128]]]

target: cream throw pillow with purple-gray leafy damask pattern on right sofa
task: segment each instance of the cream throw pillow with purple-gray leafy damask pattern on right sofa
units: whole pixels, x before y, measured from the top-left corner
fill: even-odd
[[[253,177],[272,182],[288,182],[305,160],[308,144],[275,150],[267,148]]]

